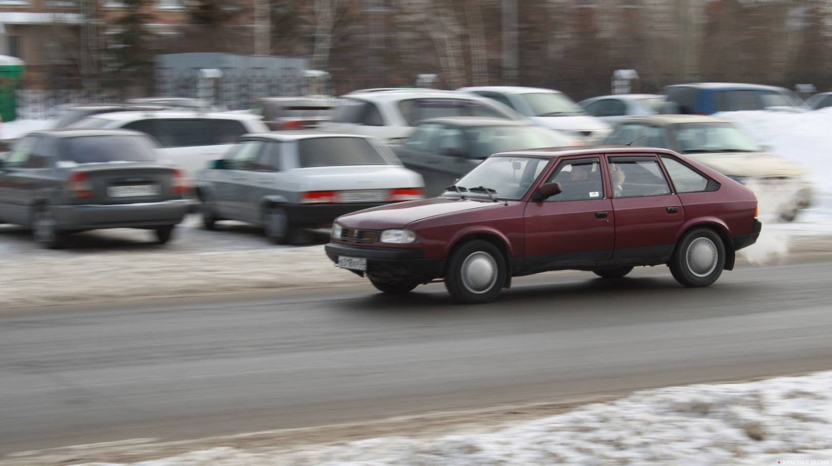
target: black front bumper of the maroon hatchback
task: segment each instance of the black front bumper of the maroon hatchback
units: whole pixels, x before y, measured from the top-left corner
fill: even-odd
[[[336,266],[339,256],[367,259],[366,274],[382,280],[430,282],[434,278],[442,277],[445,270],[445,259],[425,258],[422,248],[379,248],[329,243],[325,250],[329,260]],[[355,273],[364,275],[362,272]]]

